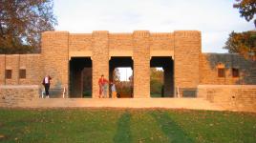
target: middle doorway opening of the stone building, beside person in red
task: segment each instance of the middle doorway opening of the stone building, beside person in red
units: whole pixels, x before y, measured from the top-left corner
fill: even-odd
[[[119,72],[118,68],[130,68],[133,71],[133,59],[130,56],[125,57],[111,57],[109,61],[109,81],[114,81],[117,89],[118,98],[132,98],[134,91],[134,76],[132,75],[126,78],[126,80],[120,80],[120,74],[127,74]],[[119,76],[119,77],[118,77]],[[112,97],[111,86],[110,86],[110,97]]]

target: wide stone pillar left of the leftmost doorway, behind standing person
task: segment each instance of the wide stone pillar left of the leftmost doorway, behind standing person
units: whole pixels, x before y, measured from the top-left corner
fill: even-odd
[[[51,88],[69,85],[69,32],[46,31],[42,33],[41,62],[43,74],[53,77]]]

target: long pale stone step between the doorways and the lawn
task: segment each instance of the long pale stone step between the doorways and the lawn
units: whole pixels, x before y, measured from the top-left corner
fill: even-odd
[[[38,98],[17,104],[23,108],[164,108],[223,111],[203,98]]]

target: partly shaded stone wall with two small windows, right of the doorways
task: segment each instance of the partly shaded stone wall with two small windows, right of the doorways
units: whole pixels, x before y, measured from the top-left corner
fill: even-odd
[[[224,66],[225,76],[218,77],[218,65]],[[239,77],[232,76],[232,68],[239,70]],[[255,85],[256,62],[237,53],[203,53],[200,62],[200,84]]]

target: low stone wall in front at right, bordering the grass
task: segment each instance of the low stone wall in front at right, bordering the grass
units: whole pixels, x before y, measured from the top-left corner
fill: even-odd
[[[226,110],[256,112],[256,85],[199,85],[197,96]]]

